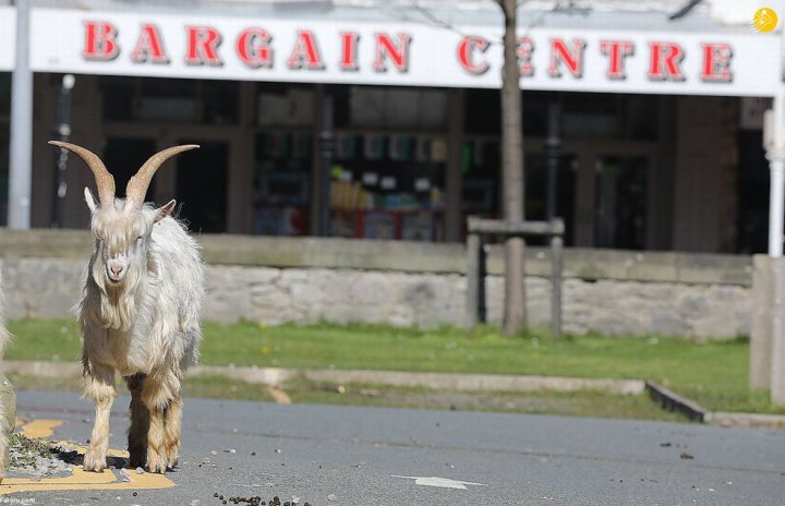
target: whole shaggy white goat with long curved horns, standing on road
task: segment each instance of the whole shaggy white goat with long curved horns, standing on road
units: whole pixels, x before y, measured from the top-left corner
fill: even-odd
[[[198,146],[174,146],[152,156],[131,178],[122,200],[114,196],[114,178],[97,155],[69,143],[49,144],[78,155],[98,189],[98,202],[88,188],[84,192],[95,244],[75,308],[83,397],[96,410],[84,469],[101,472],[107,467],[118,371],[131,393],[130,465],[164,473],[178,461],[183,374],[198,361],[204,265],[196,241],[170,216],[174,201],[154,207],[144,197],[168,158]]]

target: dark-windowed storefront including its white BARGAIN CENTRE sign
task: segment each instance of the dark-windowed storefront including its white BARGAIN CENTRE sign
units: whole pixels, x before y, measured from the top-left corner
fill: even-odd
[[[50,9],[31,22],[36,227],[51,222],[46,141],[65,73],[71,140],[102,156],[118,188],[156,149],[202,145],[148,194],[177,196],[194,230],[458,241],[467,215],[498,216],[496,26]],[[554,25],[519,43],[528,218],[555,206],[568,245],[758,251],[760,97],[778,81],[777,36]],[[82,228],[92,182],[70,165],[64,224]]]

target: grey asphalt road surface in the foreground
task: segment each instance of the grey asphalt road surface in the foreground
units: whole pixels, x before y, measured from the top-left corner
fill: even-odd
[[[114,405],[113,448],[125,447],[126,407]],[[73,394],[20,393],[19,411],[62,420],[53,438],[84,443],[92,426]],[[0,504],[221,505],[216,493],[300,506],[785,504],[785,431],[204,399],[186,399],[183,429],[174,486]],[[444,480],[415,480],[431,477]]]

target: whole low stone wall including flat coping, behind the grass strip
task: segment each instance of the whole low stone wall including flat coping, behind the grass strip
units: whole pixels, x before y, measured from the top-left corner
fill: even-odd
[[[462,244],[318,238],[198,237],[208,263],[205,320],[463,324]],[[69,317],[92,248],[86,231],[0,229],[11,318]],[[503,255],[490,246],[486,305],[502,318]],[[750,334],[750,256],[567,249],[564,329],[575,334]],[[551,314],[550,258],[527,249],[532,325]]]

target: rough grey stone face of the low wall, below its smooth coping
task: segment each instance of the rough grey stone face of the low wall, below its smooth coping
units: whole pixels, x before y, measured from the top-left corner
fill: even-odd
[[[69,317],[80,292],[84,261],[2,260],[8,315]],[[348,268],[208,265],[205,320],[364,322],[461,325],[464,277],[456,273],[402,273]],[[551,285],[527,281],[532,325],[547,325]],[[486,278],[487,316],[499,322],[504,294],[498,275]],[[718,284],[566,279],[565,332],[732,338],[749,335],[751,290]]]

